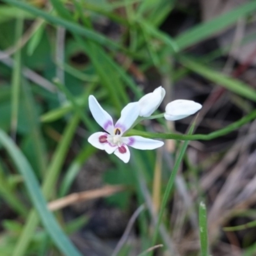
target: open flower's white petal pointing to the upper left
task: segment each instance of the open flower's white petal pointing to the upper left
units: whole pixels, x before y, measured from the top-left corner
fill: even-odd
[[[113,119],[107,111],[101,108],[93,95],[89,96],[89,108],[95,121],[107,132],[113,134]]]

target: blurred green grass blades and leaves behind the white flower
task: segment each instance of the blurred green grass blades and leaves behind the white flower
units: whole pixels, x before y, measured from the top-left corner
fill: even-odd
[[[218,200],[218,195],[213,195],[218,194],[220,188],[216,192],[215,187],[203,189],[201,186],[205,186],[207,175],[211,177],[214,166],[230,159],[231,147],[225,136],[232,136],[237,131],[237,141],[232,142],[241,143],[255,132],[252,124],[256,118],[256,91],[249,80],[246,82],[221,71],[223,63],[216,59],[221,54],[225,56],[229,47],[225,51],[214,49],[205,56],[195,56],[191,49],[223,29],[236,25],[241,18],[247,23],[252,22],[250,18],[256,10],[256,2],[241,4],[207,22],[199,21],[176,36],[160,29],[164,20],[175,12],[191,16],[191,19],[197,15],[179,1],[51,0],[45,6],[44,1],[2,2],[0,51],[9,55],[0,58],[0,206],[12,213],[12,220],[6,215],[1,219],[4,225],[0,255],[31,256],[35,252],[42,256],[83,255],[76,248],[79,242],[73,244],[68,236],[90,222],[90,212],[66,222],[63,211],[49,212],[47,202],[69,195],[76,186],[79,172],[88,172],[88,168],[93,170],[98,162],[104,163],[105,168],[102,170],[104,174],[98,177],[102,184],[121,184],[127,188],[104,199],[104,204],[120,208],[128,215],[139,205],[146,205],[146,211],[141,212],[136,222],[139,248],[134,255],[152,255],[156,250],[157,255],[175,252],[175,256],[209,256],[214,246],[221,246],[223,237],[219,233],[215,240],[208,239],[212,230],[207,227],[208,218],[210,221],[212,218],[211,206],[214,200]],[[110,31],[111,35],[106,32],[109,20],[116,25]],[[63,63],[58,62],[56,51],[56,31],[59,28],[64,28],[66,35],[62,42]],[[255,35],[244,36],[241,45],[248,42],[255,42]],[[60,69],[65,75],[63,81],[56,77]],[[33,77],[31,71],[39,76]],[[224,88],[228,97],[225,102],[217,99],[211,102],[211,106],[206,106],[211,119],[207,115],[204,119],[203,114],[199,114],[198,117],[203,119],[198,124],[193,122],[189,132],[184,134],[176,132],[173,124],[167,124],[160,111],[149,118],[140,118],[140,124],[127,134],[165,140],[168,147],[163,148],[163,154],[159,154],[161,157],[156,157],[155,150],[131,150],[131,161],[124,164],[113,154],[99,154],[99,150],[89,145],[88,136],[101,131],[88,109],[89,95],[95,95],[102,107],[117,120],[126,104],[139,100],[145,94],[144,89],[147,92],[152,89],[140,86],[137,83],[140,79],[145,84],[154,83],[155,88],[155,79],[159,77],[157,86],[164,86],[166,98],[170,100],[175,99],[175,92],[179,89],[175,86],[191,76],[197,84],[204,84],[199,93],[196,86],[193,88],[190,84],[189,92],[195,90],[201,96],[198,99],[211,98],[210,91],[218,87]],[[51,81],[56,90],[53,92],[38,86],[45,81]],[[60,94],[65,96],[64,100],[60,100]],[[184,97],[190,97],[190,94]],[[223,108],[218,105],[220,103]],[[241,114],[227,122],[225,118],[231,103],[234,113],[239,111]],[[187,127],[188,120],[179,124]],[[194,125],[199,125],[200,132],[192,134]],[[214,145],[220,147],[214,139],[223,143],[220,143],[221,149],[207,152],[206,145],[211,144],[205,141],[217,143]],[[245,147],[242,144],[241,147]],[[248,157],[251,151],[253,141],[243,150]],[[239,159],[241,155],[237,154]],[[235,160],[230,161],[235,164]],[[159,166],[157,161],[162,163],[161,179],[157,186],[153,186],[157,172],[155,166]],[[232,164],[227,164],[227,168]],[[179,171],[181,183],[177,183]],[[228,180],[231,172],[223,173],[221,180]],[[249,174],[241,177],[249,180],[252,173]],[[93,184],[90,179],[84,182]],[[154,208],[153,195],[159,195],[154,198],[160,205],[159,211]],[[187,200],[180,202],[180,198]],[[208,214],[205,204],[200,203],[202,198],[203,202],[211,198]],[[250,201],[250,198],[244,200]],[[198,205],[199,211],[194,211]],[[236,207],[239,205],[234,204],[227,211],[232,212]],[[250,207],[250,204],[244,207],[244,216],[249,216]],[[218,230],[224,224],[226,228],[223,230],[227,232],[255,228],[255,220],[250,220],[235,227],[227,227],[227,223],[221,222]],[[192,234],[193,242],[200,246],[186,250],[177,246],[191,243],[187,230]],[[250,253],[255,248],[249,235],[241,239],[243,255],[252,255]],[[104,241],[96,238],[93,241],[97,241],[102,249]],[[158,244],[163,244],[163,247],[154,248]],[[231,243],[229,246],[232,248]],[[150,248],[154,250],[148,250]],[[133,250],[134,244],[129,241],[124,244],[120,255],[129,255],[129,252],[134,253]]]

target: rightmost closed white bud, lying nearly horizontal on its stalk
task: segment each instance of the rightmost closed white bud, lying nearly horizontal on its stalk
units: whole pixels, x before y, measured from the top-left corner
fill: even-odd
[[[175,121],[195,114],[202,105],[193,100],[173,100],[165,108],[164,118]]]

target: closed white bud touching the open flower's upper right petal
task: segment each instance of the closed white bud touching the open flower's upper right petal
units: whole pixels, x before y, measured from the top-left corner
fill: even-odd
[[[144,95],[140,100],[140,114],[139,116],[148,117],[159,107],[164,99],[165,90],[159,86],[154,92]]]

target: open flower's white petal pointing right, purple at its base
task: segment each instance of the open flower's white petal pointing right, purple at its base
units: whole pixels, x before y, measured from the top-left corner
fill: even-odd
[[[123,137],[122,141],[132,148],[137,149],[155,149],[164,145],[163,141],[152,140],[141,136]]]

